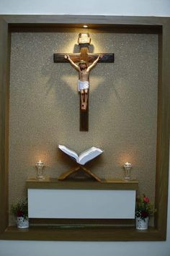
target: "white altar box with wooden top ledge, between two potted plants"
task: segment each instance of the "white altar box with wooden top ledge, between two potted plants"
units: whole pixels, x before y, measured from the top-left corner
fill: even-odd
[[[138,182],[27,181],[29,218],[135,218]]]

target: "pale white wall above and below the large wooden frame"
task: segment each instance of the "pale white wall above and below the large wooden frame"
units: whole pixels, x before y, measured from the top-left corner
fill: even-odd
[[[169,0],[0,0],[0,14],[104,14],[170,17]],[[170,179],[169,179],[170,184]],[[170,195],[170,189],[169,189]],[[166,242],[0,241],[0,256],[169,256],[170,197]]]

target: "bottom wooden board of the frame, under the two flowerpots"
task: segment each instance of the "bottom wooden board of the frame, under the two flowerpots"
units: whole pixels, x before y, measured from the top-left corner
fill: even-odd
[[[58,227],[30,226],[29,229],[17,229],[9,226],[0,239],[39,240],[39,241],[161,241],[157,229],[138,231],[135,227]]]

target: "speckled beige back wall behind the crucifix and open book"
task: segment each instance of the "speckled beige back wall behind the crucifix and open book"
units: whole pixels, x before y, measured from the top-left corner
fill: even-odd
[[[53,53],[79,52],[79,33],[12,33],[9,118],[9,204],[26,194],[25,181],[45,162],[58,177],[77,153],[92,145],[104,153],[87,167],[102,178],[122,178],[133,163],[140,192],[154,198],[158,88],[158,37],[91,33],[91,51],[115,53],[114,64],[90,74],[89,132],[79,132],[78,73],[54,64]]]

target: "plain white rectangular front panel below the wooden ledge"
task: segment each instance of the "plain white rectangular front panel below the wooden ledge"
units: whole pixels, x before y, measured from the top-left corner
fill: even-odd
[[[135,190],[28,189],[29,218],[135,218]]]

